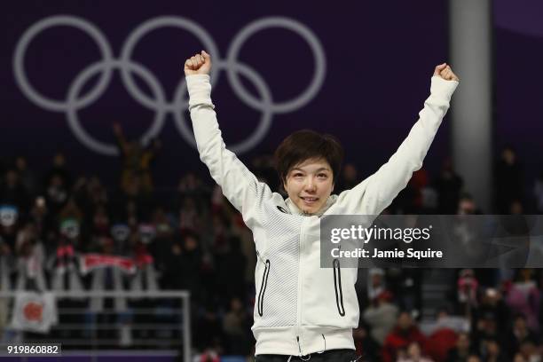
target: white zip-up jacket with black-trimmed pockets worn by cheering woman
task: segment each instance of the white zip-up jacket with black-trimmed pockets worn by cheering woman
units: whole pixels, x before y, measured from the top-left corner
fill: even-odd
[[[331,195],[318,216],[303,216],[292,201],[272,193],[226,149],[211,103],[209,75],[190,75],[186,82],[201,161],[255,239],[256,355],[354,350],[357,270],[320,268],[320,216],[379,215],[389,206],[413,171],[421,169],[458,83],[432,77],[419,121],[390,160],[351,190]]]

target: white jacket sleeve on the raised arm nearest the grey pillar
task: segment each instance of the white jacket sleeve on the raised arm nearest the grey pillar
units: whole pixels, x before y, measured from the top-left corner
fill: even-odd
[[[421,169],[422,161],[449,109],[449,102],[457,86],[456,81],[432,77],[430,96],[424,102],[419,120],[413,125],[407,138],[374,175],[339,195],[336,212],[379,215],[390,205],[405,188],[413,172]]]

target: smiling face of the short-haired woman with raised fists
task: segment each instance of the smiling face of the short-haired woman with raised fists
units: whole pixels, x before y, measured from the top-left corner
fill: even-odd
[[[326,160],[306,160],[288,170],[284,187],[298,209],[313,215],[326,205],[334,190],[334,174]]]

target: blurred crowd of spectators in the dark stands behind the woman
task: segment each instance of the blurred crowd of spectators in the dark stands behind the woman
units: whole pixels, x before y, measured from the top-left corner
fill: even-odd
[[[122,153],[118,185],[73,174],[63,153],[39,175],[23,156],[0,165],[0,292],[188,290],[195,348],[251,355],[256,254],[240,214],[209,176],[192,172],[166,200],[156,197],[161,182],[153,179],[152,163],[160,143],[142,147],[126,140],[120,127],[114,132]],[[271,155],[248,166],[281,192]],[[543,214],[543,173],[526,189],[522,164],[509,146],[494,172],[492,210],[477,206],[445,161],[437,175],[417,171],[386,212]],[[359,181],[357,166],[347,163],[335,191]],[[130,258],[137,271],[83,273],[82,256],[91,254]],[[359,273],[354,337],[361,361],[541,361],[540,270],[451,271],[444,303],[431,319],[422,318],[421,286],[429,271]],[[0,334],[8,326],[2,308]]]

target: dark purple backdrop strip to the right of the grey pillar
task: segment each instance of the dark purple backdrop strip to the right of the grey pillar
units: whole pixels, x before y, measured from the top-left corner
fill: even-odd
[[[515,146],[533,180],[543,171],[543,3],[494,2],[495,146]]]

